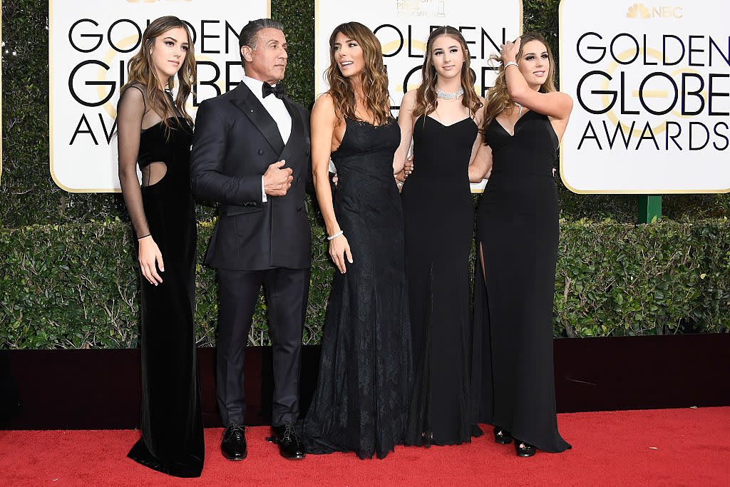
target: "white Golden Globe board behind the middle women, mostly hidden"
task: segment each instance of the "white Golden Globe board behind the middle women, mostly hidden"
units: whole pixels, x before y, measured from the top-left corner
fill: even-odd
[[[477,73],[475,87],[483,95],[496,78],[489,56],[499,53],[500,44],[522,33],[522,1],[369,0],[345,4],[342,0],[316,0],[315,95],[328,89],[324,72],[329,65],[329,37],[335,27],[350,20],[369,27],[380,39],[391,103],[397,110],[403,94],[420,85],[426,41],[431,30],[439,26],[456,27],[464,35],[472,69]],[[483,187],[484,183],[472,185],[472,191]]]

